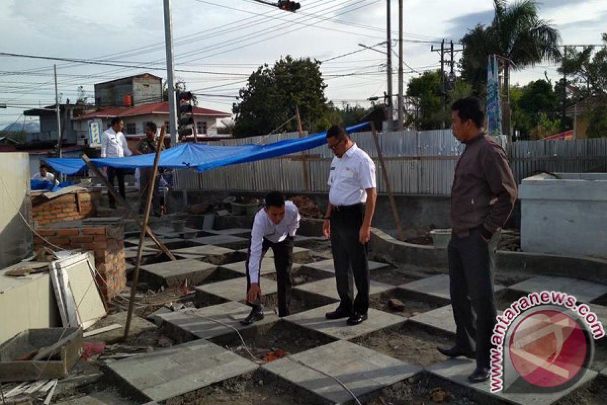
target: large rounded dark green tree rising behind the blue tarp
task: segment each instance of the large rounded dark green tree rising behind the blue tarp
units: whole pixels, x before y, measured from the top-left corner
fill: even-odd
[[[234,136],[269,134],[295,115],[296,107],[306,123],[326,125],[324,83],[320,61],[310,58],[282,58],[273,67],[265,64],[249,76],[239,91],[240,103],[232,106],[236,115]],[[308,125],[309,126],[309,125]],[[296,131],[295,120],[284,127]]]

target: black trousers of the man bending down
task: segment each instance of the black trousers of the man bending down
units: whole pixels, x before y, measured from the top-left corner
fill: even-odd
[[[289,304],[291,303],[291,289],[293,288],[293,278],[291,276],[291,270],[293,269],[293,246],[295,238],[287,236],[287,239],[279,243],[271,242],[268,239],[263,238],[262,245],[262,257],[268,249],[272,248],[274,251],[274,265],[276,266],[276,277],[278,284],[278,314],[279,316],[291,315]],[[249,258],[251,257],[251,246],[249,243],[249,249],[246,253],[246,291],[249,291],[251,287],[251,278],[249,276]],[[261,259],[259,260],[259,267],[261,267]],[[261,269],[260,269],[261,273]],[[259,286],[261,287],[261,274],[259,277]],[[257,308],[261,310],[262,305],[260,301],[247,302],[246,305],[249,307]]]

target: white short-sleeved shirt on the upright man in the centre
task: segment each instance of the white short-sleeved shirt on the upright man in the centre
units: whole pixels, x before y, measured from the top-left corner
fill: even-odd
[[[354,143],[342,157],[333,157],[327,184],[331,205],[365,203],[365,190],[377,188],[375,163]]]

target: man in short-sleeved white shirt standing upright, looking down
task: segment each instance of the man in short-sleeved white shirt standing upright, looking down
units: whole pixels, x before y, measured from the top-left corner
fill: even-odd
[[[348,318],[348,325],[358,325],[367,319],[369,308],[367,243],[377,200],[375,163],[340,126],[328,129],[327,146],[335,157],[327,182],[329,203],[322,233],[331,238],[340,302],[337,309],[325,317]],[[356,298],[353,282],[358,290]]]

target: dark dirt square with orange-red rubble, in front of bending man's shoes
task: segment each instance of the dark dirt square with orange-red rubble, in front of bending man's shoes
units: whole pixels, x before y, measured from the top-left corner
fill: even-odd
[[[321,333],[283,321],[271,325],[247,328],[240,331],[240,335],[242,335],[247,345],[246,349],[260,360],[277,349],[282,350],[286,355],[293,355],[335,341],[335,339]],[[229,333],[210,340],[244,358],[251,359],[236,333]]]

